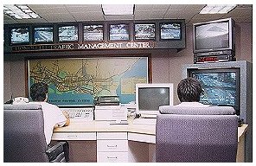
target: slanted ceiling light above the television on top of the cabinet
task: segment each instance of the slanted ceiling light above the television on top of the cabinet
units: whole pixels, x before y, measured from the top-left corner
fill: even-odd
[[[200,11],[200,14],[224,14],[235,7],[236,4],[208,4]]]

